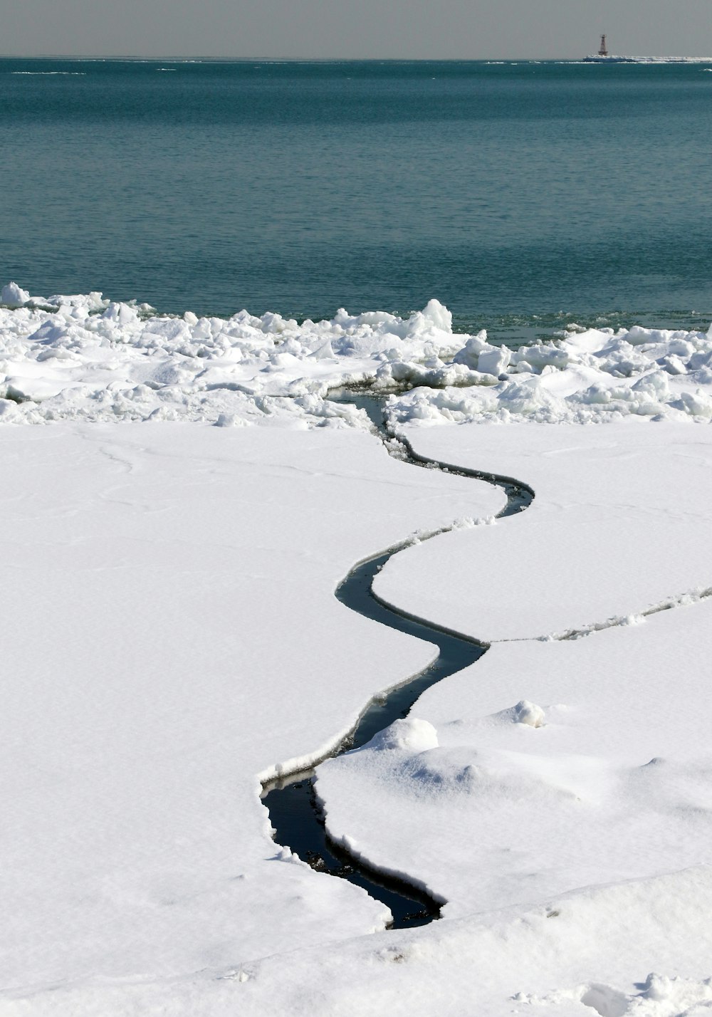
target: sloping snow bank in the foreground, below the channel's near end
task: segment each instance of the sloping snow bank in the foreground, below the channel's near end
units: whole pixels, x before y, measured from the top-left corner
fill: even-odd
[[[433,1006],[446,1017],[701,1017],[709,1012],[710,981],[699,971],[709,969],[711,908],[712,873],[700,866],[583,889],[550,906],[361,936],[338,949],[290,950],[160,981],[37,986],[24,1000],[0,1001],[0,1017],[425,1017]]]

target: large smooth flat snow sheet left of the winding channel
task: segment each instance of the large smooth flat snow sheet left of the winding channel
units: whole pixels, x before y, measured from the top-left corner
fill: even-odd
[[[3,988],[382,929],[270,840],[258,776],[432,656],[336,600],[354,561],[501,495],[358,431],[4,428],[0,457]]]

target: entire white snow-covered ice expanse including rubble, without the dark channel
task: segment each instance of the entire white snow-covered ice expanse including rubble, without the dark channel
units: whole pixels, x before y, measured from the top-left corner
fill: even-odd
[[[1,303],[0,1015],[708,1012],[712,335]],[[377,594],[491,646],[318,768],[447,901],[393,932],[258,795],[431,659],[334,597],[409,536]]]

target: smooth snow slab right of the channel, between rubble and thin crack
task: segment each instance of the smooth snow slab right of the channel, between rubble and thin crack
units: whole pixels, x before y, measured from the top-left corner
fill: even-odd
[[[519,516],[395,555],[374,583],[389,603],[488,642],[630,624],[712,589],[712,429],[628,421],[406,434],[423,456],[518,477],[536,497]]]

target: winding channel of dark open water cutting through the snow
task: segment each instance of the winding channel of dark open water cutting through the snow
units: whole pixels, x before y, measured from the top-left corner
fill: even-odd
[[[381,398],[353,393],[337,395],[334,398],[339,402],[349,402],[365,409],[392,456],[413,466],[484,480],[501,488],[507,494],[507,504],[497,514],[497,519],[523,512],[531,503],[534,497],[532,489],[512,477],[467,470],[419,456],[409,442],[395,438],[384,426]],[[374,697],[354,730],[332,754],[333,756],[340,756],[349,750],[366,744],[378,731],[399,717],[407,716],[413,704],[426,689],[468,667],[487,650],[485,643],[436,625],[425,618],[417,618],[399,611],[376,597],[372,590],[376,574],[389,558],[404,546],[405,543],[398,544],[355,565],[339,584],[336,596],[351,610],[365,617],[433,644],[437,647],[437,657],[428,667],[402,684],[391,689],[382,696]],[[423,925],[439,918],[443,900],[435,900],[426,891],[407,880],[378,873],[354,858],[328,836],[323,815],[314,791],[314,774],[315,768],[276,778],[264,785],[262,800],[270,812],[270,822],[275,830],[276,842],[289,847],[313,869],[347,879],[385,904],[393,915],[393,922],[389,925],[391,929]]]

